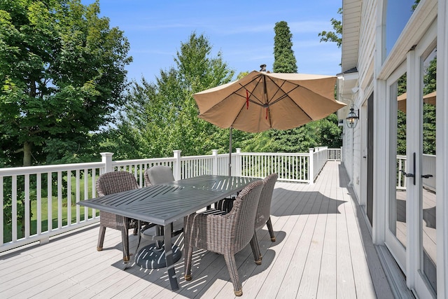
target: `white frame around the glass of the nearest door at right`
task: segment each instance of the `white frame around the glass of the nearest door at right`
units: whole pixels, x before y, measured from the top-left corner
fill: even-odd
[[[423,196],[421,191],[423,188],[423,179],[421,178],[423,174],[423,60],[428,51],[433,50],[436,44],[437,22],[433,22],[414,50],[409,50],[407,53],[406,130],[413,133],[407,134],[406,139],[408,167],[411,165],[414,153],[416,154],[415,185],[414,178],[407,178],[406,216],[409,219],[407,221],[407,286],[415,288],[421,298],[435,298],[436,296],[421,271],[423,269],[423,251],[420,246],[423,238],[421,233],[421,219],[423,218],[421,209]],[[440,281],[437,281],[437,284],[440,284]]]

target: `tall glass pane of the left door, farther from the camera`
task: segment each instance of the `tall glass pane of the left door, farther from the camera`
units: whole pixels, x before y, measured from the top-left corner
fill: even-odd
[[[391,85],[391,99],[397,99],[395,111],[395,127],[393,134],[396,136],[396,171],[395,190],[392,192],[389,203],[389,229],[406,248],[407,224],[406,224],[406,74]],[[395,195],[395,197],[393,196]]]

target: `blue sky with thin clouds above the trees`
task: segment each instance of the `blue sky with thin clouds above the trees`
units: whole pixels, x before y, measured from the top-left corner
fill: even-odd
[[[82,0],[91,4],[94,0]],[[300,73],[335,75],[341,50],[335,43],[321,43],[318,33],[332,30],[331,18],[339,20],[342,1],[153,1],[100,0],[101,16],[119,27],[130,41],[134,62],[128,79],[154,81],[160,69],[174,67],[176,51],[190,34],[204,34],[221,51],[235,74],[259,70],[274,62],[274,26],[286,21],[293,34],[293,50]]]

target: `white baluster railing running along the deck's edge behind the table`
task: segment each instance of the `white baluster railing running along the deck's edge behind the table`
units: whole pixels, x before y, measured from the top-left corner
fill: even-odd
[[[339,151],[339,153],[338,153]],[[212,155],[113,161],[102,153],[102,162],[10,167],[0,169],[0,252],[32,242],[48,242],[62,232],[99,221],[99,211],[80,207],[80,200],[96,197],[100,174],[116,170],[132,172],[144,186],[145,169],[172,167],[175,179],[202,174],[228,175],[229,155]],[[340,157],[340,149],[315,148],[309,153],[232,153],[233,176],[265,177],[279,174],[279,181],[313,183],[327,160]],[[22,225],[25,223],[25,225]]]

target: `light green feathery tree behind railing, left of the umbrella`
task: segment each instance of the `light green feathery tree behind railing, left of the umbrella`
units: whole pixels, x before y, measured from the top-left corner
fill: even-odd
[[[117,146],[114,157],[167,157],[176,149],[182,155],[208,154],[211,148],[228,152],[228,130],[198,118],[193,98],[193,93],[228,83],[234,76],[221,53],[211,57],[211,50],[204,35],[193,33],[181,43],[176,67],[161,70],[155,83],[144,78],[132,83],[121,123],[109,135]],[[130,151],[129,144],[136,149]]]

